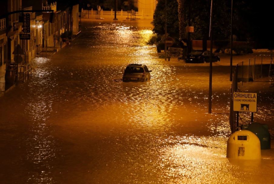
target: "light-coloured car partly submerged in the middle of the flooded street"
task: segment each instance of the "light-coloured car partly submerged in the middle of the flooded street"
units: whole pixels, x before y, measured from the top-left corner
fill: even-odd
[[[150,72],[146,65],[143,64],[129,64],[127,65],[123,82],[146,82],[150,80]]]

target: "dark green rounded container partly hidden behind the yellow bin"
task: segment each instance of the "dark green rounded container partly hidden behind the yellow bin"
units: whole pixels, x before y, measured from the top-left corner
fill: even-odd
[[[243,129],[253,132],[261,142],[261,150],[268,150],[271,147],[271,139],[266,124],[253,122],[248,126],[243,126]]]

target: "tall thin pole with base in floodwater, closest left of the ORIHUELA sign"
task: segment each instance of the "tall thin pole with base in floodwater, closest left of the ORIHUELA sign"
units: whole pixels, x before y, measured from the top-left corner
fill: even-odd
[[[212,5],[213,0],[211,0],[210,8],[210,66],[209,66],[209,95],[208,95],[208,113],[211,114],[211,104],[212,104],[212,50],[213,50],[213,38],[212,38]]]

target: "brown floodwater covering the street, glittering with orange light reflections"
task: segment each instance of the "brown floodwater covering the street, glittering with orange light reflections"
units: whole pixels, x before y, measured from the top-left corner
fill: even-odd
[[[213,63],[207,114],[209,64],[160,59],[146,45],[149,21],[81,26],[0,97],[1,184],[273,183],[270,150],[260,162],[226,158],[227,66]],[[147,65],[151,81],[121,82],[130,63]],[[254,119],[273,128],[273,96],[263,100]]]

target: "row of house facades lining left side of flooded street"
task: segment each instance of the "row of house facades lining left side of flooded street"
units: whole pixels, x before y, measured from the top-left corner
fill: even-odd
[[[60,50],[66,45],[61,39],[61,34],[71,32],[75,35],[79,32],[78,14],[79,6],[74,5],[58,10],[57,3],[48,4],[39,0],[38,4],[25,6],[32,1],[4,0],[0,6],[0,91],[3,91],[3,81],[6,82],[5,73],[9,66],[24,66],[31,64],[39,53],[48,50]],[[23,5],[22,5],[23,3]],[[29,11],[13,13],[14,11]],[[43,10],[44,12],[33,12]],[[53,10],[48,12],[47,10]],[[30,28],[25,40],[20,34],[24,34],[24,14],[30,16]],[[20,73],[20,69],[18,68]],[[18,79],[17,79],[18,80]],[[20,79],[19,79],[20,80]]]

